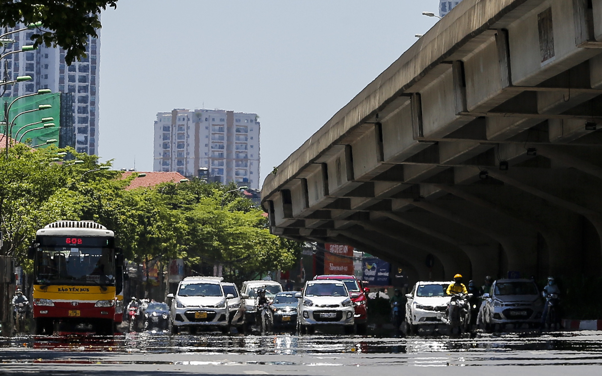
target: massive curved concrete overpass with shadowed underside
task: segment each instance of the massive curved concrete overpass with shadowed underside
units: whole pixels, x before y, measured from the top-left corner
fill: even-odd
[[[601,53],[602,0],[462,1],[265,179],[272,233],[414,279],[599,276]]]

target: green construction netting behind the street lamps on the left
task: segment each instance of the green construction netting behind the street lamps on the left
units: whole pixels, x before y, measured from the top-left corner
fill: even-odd
[[[9,100],[8,104],[13,98],[2,98],[2,107],[4,108],[4,101]],[[9,120],[12,120],[15,116],[20,114],[23,111],[28,111],[30,109],[36,109],[39,105],[51,105],[52,108],[41,109],[39,111],[33,111],[26,114],[22,114],[14,121],[12,137],[19,141],[25,142],[28,138],[31,138],[31,146],[45,144],[46,140],[54,138],[58,140],[59,135],[59,126],[60,126],[60,117],[61,117],[61,94],[60,93],[51,93],[51,94],[39,94],[31,97],[25,97],[18,99],[14,102],[13,106],[10,108]],[[1,111],[0,111],[1,113]],[[36,125],[26,126],[31,123],[40,122],[43,117],[54,117],[52,122],[46,123],[55,123],[55,126],[52,128],[44,128],[37,129],[36,131],[30,131],[25,134],[29,129],[39,128],[44,123],[39,123]],[[21,129],[23,126],[25,128]],[[20,131],[19,131],[20,130]],[[17,133],[18,132],[18,133]],[[58,145],[58,143],[55,143]],[[45,147],[45,146],[40,146]]]

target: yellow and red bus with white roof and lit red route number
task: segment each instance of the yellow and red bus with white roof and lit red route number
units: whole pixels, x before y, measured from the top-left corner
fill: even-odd
[[[123,254],[113,231],[93,221],[57,221],[37,230],[29,256],[37,334],[114,333]]]

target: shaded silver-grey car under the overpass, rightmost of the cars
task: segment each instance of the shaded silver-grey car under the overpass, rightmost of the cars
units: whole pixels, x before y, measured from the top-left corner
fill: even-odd
[[[491,294],[483,294],[485,304],[480,316],[494,330],[506,324],[539,324],[544,301],[535,282],[530,279],[499,279],[491,286]]]

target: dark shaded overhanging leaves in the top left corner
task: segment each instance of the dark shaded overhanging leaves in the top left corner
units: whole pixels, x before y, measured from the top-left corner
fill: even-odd
[[[0,25],[14,27],[42,22],[32,40],[38,46],[60,46],[71,64],[85,56],[88,35],[98,37],[101,10],[117,7],[117,0],[0,0]]]

